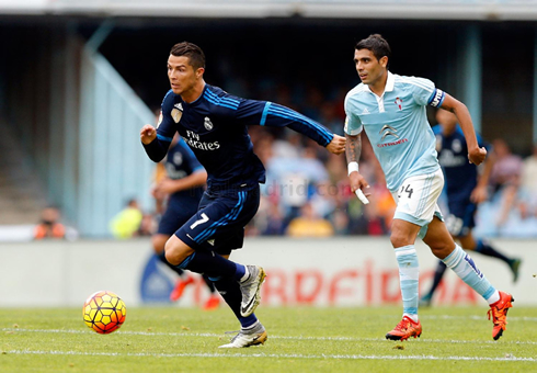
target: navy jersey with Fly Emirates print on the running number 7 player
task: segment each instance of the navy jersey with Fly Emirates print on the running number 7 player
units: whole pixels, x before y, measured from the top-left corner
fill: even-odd
[[[205,84],[202,95],[186,103],[169,91],[162,102],[157,139],[144,145],[160,161],[179,132],[207,170],[209,188],[254,187],[265,182],[265,169],[253,152],[247,125],[288,126],[321,146],[333,134],[319,123],[267,101],[245,100]]]

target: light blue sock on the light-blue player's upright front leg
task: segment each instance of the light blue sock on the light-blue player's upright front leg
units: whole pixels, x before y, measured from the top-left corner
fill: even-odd
[[[420,268],[414,245],[397,248],[396,257],[399,264],[403,316],[408,316],[418,323],[418,280],[420,279]]]

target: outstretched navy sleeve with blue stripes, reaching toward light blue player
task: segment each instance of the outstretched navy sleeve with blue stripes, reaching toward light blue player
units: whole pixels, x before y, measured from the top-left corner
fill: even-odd
[[[252,116],[251,124],[270,127],[289,127],[308,136],[317,144],[327,146],[334,135],[320,123],[297,113],[296,111],[270,101],[245,100],[237,110],[237,118]]]

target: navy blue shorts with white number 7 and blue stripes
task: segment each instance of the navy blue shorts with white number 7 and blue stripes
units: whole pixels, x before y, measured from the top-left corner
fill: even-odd
[[[194,250],[229,255],[242,247],[244,226],[258,212],[259,204],[259,185],[253,189],[207,190],[199,210],[175,231],[175,236]]]

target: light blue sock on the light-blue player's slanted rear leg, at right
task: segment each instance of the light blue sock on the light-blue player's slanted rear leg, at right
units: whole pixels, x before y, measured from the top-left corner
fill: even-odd
[[[496,296],[500,298],[498,291],[490,284],[481,271],[479,271],[473,260],[460,246],[455,245],[455,250],[442,259],[442,261],[489,304],[494,303]]]

